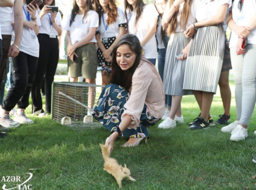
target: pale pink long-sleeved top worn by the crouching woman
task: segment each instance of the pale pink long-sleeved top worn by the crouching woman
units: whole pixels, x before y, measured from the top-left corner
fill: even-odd
[[[132,91],[129,100],[124,104],[126,110],[121,115],[130,115],[132,123],[128,128],[137,128],[144,104],[155,118],[162,118],[165,111],[165,93],[162,80],[156,67],[145,57],[135,70],[132,78]]]

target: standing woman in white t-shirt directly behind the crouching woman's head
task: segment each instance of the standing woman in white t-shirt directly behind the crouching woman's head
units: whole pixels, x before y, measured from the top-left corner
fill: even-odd
[[[129,34],[139,38],[143,47],[142,56],[155,65],[158,57],[155,39],[158,12],[155,6],[144,4],[142,0],[125,0],[124,10],[130,12],[128,16],[125,11]]]

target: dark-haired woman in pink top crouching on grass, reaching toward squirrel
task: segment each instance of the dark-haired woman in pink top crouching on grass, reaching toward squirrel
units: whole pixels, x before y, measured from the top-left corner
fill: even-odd
[[[111,131],[106,139],[110,152],[119,136],[130,137],[123,147],[137,146],[149,137],[148,127],[164,115],[162,80],[141,53],[142,46],[135,35],[120,38],[113,49],[110,85],[105,86],[92,112]]]

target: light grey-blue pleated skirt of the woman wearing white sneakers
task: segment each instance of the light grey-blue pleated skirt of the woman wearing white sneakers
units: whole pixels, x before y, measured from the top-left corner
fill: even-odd
[[[177,60],[176,55],[187,47],[190,38],[184,33],[173,33],[168,41],[164,66],[164,91],[167,95],[183,96],[192,94],[192,91],[183,89],[186,59]]]

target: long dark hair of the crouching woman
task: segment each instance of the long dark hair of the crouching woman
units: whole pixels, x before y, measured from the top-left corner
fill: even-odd
[[[128,45],[130,47],[130,50],[133,51],[133,53],[136,54],[135,63],[132,67],[130,67],[127,70],[121,70],[121,67],[118,65],[116,56],[117,56],[117,49],[122,45]],[[122,86],[127,91],[130,91],[130,88],[132,87],[132,77],[133,73],[135,73],[135,70],[137,69],[137,66],[139,66],[140,59],[141,59],[141,53],[142,53],[142,46],[140,45],[139,38],[133,34],[124,34],[119,41],[117,41],[116,46],[114,46],[113,49],[113,55],[112,55],[112,74],[110,83],[114,83],[116,85]]]

